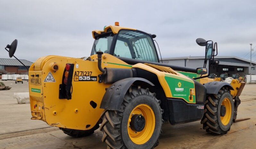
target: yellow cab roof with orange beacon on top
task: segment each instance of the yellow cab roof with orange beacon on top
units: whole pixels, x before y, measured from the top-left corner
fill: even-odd
[[[137,30],[137,29],[129,28],[129,27],[120,27],[119,23],[118,23],[118,25],[109,25],[109,26],[105,27],[104,30],[93,30],[92,37],[95,39],[96,35],[100,35],[100,34],[111,32],[111,31],[113,32],[113,34],[117,34],[119,32],[119,30],[121,30],[121,29]]]

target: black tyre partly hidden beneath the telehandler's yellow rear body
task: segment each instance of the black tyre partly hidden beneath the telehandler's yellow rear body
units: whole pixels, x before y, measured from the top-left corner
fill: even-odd
[[[77,129],[68,129],[68,128],[59,128],[61,129],[64,134],[67,134],[71,137],[86,137],[94,133],[94,130],[99,128],[99,124],[97,123],[92,129],[90,130],[77,130]]]

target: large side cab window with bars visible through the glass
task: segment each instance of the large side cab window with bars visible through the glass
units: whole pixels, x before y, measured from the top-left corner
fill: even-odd
[[[114,55],[158,62],[155,46],[150,35],[131,30],[121,30],[118,33]]]

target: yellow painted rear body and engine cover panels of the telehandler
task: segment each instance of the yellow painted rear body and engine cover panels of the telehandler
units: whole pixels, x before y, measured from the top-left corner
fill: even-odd
[[[79,58],[47,56],[39,58],[31,65],[29,69],[31,119],[42,120],[51,126],[69,129],[88,130],[95,126],[104,110],[100,109],[99,106],[105,89],[111,84],[99,83],[98,81],[86,83],[73,81],[72,99],[59,99],[59,85],[62,84],[63,73],[67,63],[74,64],[74,72],[92,72],[91,76],[102,74],[102,72],[98,70],[97,55],[92,55],[90,58],[91,61]],[[53,70],[53,64],[59,66],[57,71]],[[159,82],[168,98],[175,97],[172,96],[171,90],[164,78],[166,75],[178,77],[185,81],[190,80],[190,82],[192,82],[191,78],[169,67],[153,67],[147,63],[129,65],[110,54],[102,55],[102,67],[141,68],[152,72],[158,76]],[[164,70],[166,72],[164,72]],[[49,74],[52,75],[55,82],[44,82]],[[38,77],[36,77],[37,75]],[[206,82],[207,80],[200,79],[200,82],[201,81]],[[195,92],[193,92],[192,95],[195,95]],[[96,108],[90,105],[90,101],[97,104]],[[195,103],[195,99],[192,98],[192,100],[186,102]]]

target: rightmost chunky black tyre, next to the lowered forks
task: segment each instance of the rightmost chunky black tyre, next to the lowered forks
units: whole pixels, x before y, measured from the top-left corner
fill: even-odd
[[[221,103],[223,100],[229,100],[231,104],[231,111],[225,112],[230,115],[230,120],[227,121],[226,125],[221,121]],[[226,108],[225,108],[226,109]],[[226,116],[226,114],[224,116]],[[233,123],[234,116],[234,101],[228,89],[222,88],[219,90],[218,95],[210,94],[207,96],[204,106],[204,116],[201,120],[203,124],[203,129],[206,129],[206,132],[223,135],[226,134]]]

